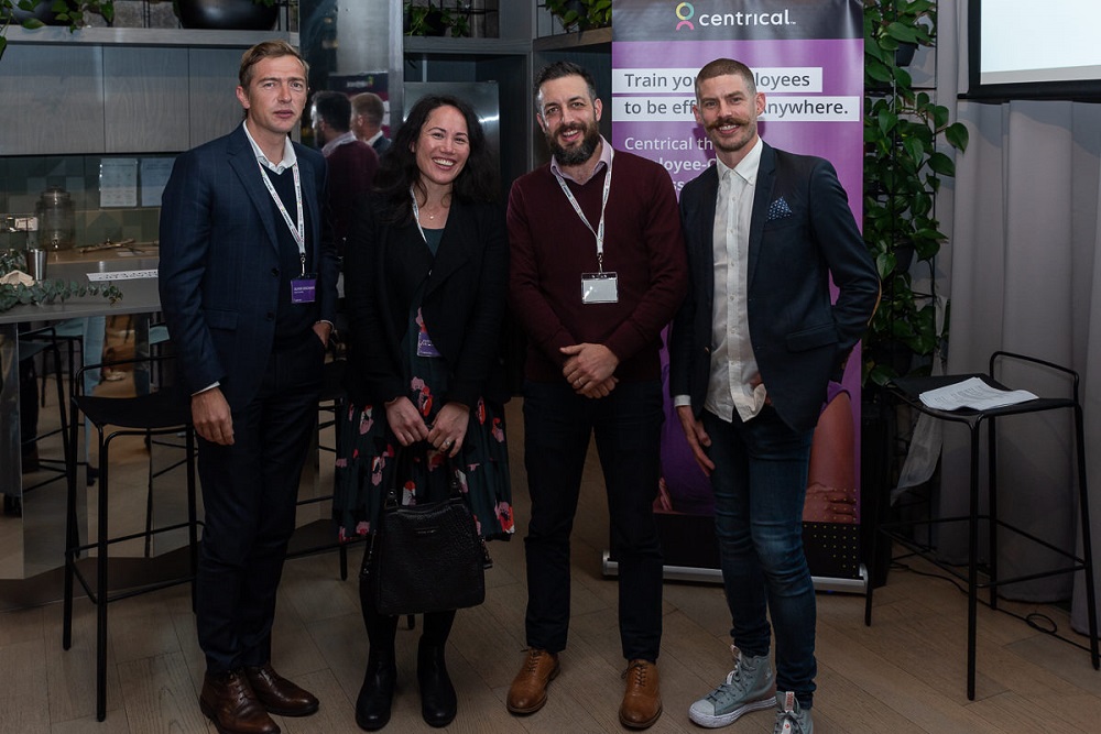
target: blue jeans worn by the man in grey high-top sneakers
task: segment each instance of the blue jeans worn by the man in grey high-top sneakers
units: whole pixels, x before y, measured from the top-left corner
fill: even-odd
[[[771,406],[733,424],[704,412],[715,462],[715,530],[731,636],[748,656],[767,655],[776,628],[776,686],[814,701],[815,588],[803,552],[813,430],[795,431]]]

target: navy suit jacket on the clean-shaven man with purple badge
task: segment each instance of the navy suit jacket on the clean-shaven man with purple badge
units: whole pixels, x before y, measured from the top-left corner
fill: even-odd
[[[321,234],[325,158],[297,143],[294,152],[318,318],[331,321],[339,266]],[[195,393],[219,382],[235,410],[255,395],[275,337],[277,228],[286,223],[276,218],[262,175],[239,127],[179,155],[161,205],[161,308],[184,386]]]

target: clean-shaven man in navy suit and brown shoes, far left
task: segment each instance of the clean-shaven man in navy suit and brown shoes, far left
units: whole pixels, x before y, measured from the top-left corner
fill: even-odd
[[[160,291],[199,435],[205,527],[199,705],[219,732],[271,734],[318,702],[271,667],[298,480],[317,419],[337,263],[321,237],[325,161],[287,138],[306,101],[291,45],[241,59],[243,124],[176,158],[161,209]]]

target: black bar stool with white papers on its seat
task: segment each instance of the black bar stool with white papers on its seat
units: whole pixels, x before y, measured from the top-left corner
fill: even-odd
[[[936,408],[930,408],[926,406],[920,401],[920,394],[929,391],[936,390],[938,387],[945,387],[951,385],[969,377],[978,377],[991,387],[998,390],[1009,390],[1003,384],[998,382],[993,375],[996,366],[1001,365],[1005,361],[1017,361],[1034,365],[1040,365],[1061,372],[1069,377],[1071,377],[1072,390],[1071,397],[1039,397],[1037,399],[1027,401],[1025,403],[1017,403],[1016,405],[1006,405],[998,408],[988,408],[984,410],[975,410],[971,408],[960,408],[958,410],[940,410]],[[872,533],[872,555],[871,562],[876,562],[879,558],[876,550],[877,544],[881,536],[887,543],[894,541],[898,545],[905,547],[908,556],[920,556],[926,558],[934,565],[938,566],[946,573],[963,581],[967,584],[968,593],[968,643],[967,643],[967,697],[969,700],[974,700],[974,667],[975,667],[975,625],[978,621],[978,592],[979,589],[990,590],[990,600],[986,604],[992,610],[998,609],[998,588],[1005,587],[1011,583],[1020,583],[1022,581],[1031,581],[1034,579],[1042,579],[1051,576],[1057,576],[1060,573],[1073,573],[1077,571],[1084,571],[1086,574],[1086,602],[1089,614],[1089,627],[1090,627],[1090,661],[1093,665],[1093,669],[1101,669],[1101,660],[1098,656],[1098,622],[1097,622],[1097,596],[1094,593],[1093,584],[1093,549],[1092,541],[1090,538],[1090,513],[1089,513],[1089,493],[1086,485],[1086,431],[1084,421],[1082,418],[1082,406],[1079,402],[1078,396],[1078,373],[1069,370],[1067,368],[1060,366],[1053,362],[1047,362],[1045,360],[1039,360],[1033,357],[1026,357],[1024,354],[1015,354],[1005,351],[995,351],[990,355],[990,363],[986,374],[963,374],[963,375],[946,375],[946,376],[935,376],[935,377],[900,377],[892,383],[892,388],[895,394],[902,398],[904,402],[913,406],[916,410],[925,413],[934,418],[940,420],[948,420],[952,423],[960,423],[968,427],[970,434],[970,506],[969,513],[959,517],[938,517],[927,521],[906,521],[906,522],[882,522],[877,524],[877,527]],[[1075,443],[1077,453],[1077,468],[1078,468],[1078,502],[1079,502],[1079,516],[1081,519],[1081,534],[1082,534],[1082,555],[1077,556],[1072,551],[1068,551],[1062,548],[1058,548],[1043,538],[1038,538],[1023,529],[1014,527],[1009,523],[999,519],[998,517],[998,435],[996,435],[996,421],[999,418],[1012,415],[1022,415],[1027,413],[1039,413],[1043,410],[1057,410],[1057,409],[1069,409],[1075,414]],[[986,460],[988,460],[988,481],[986,481],[986,506],[989,512],[983,514],[979,510],[979,432],[982,424],[989,424],[986,429]],[[911,538],[902,535],[900,533],[903,527],[909,527],[914,525],[927,525],[934,526],[944,523],[967,523],[968,525],[968,567],[967,574],[963,576],[952,569],[951,567],[939,562],[936,558],[930,557],[930,551],[933,550],[928,546],[917,544]],[[989,546],[988,554],[990,557],[989,563],[986,566],[986,581],[979,580],[979,524],[984,523],[989,529]],[[1000,530],[1014,533],[1021,537],[1024,537],[1032,543],[1038,544],[1043,548],[1046,548],[1059,556],[1066,558],[1069,563],[1059,568],[1051,569],[1049,571],[1042,571],[1038,573],[1029,573],[1027,576],[1020,576],[1014,578],[1001,578],[998,573],[998,535]],[[894,561],[897,556],[892,556],[886,554],[886,562],[890,565]],[[874,569],[870,569],[871,578],[875,578]],[[874,584],[868,585],[868,593],[864,598],[864,624],[871,626],[872,624],[872,591]]]

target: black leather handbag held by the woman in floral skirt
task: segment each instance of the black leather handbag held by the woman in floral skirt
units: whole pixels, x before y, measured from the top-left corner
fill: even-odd
[[[484,544],[450,462],[447,471],[448,500],[401,505],[396,487],[406,472],[399,461],[370,550],[375,604],[382,614],[443,612],[486,600]]]

